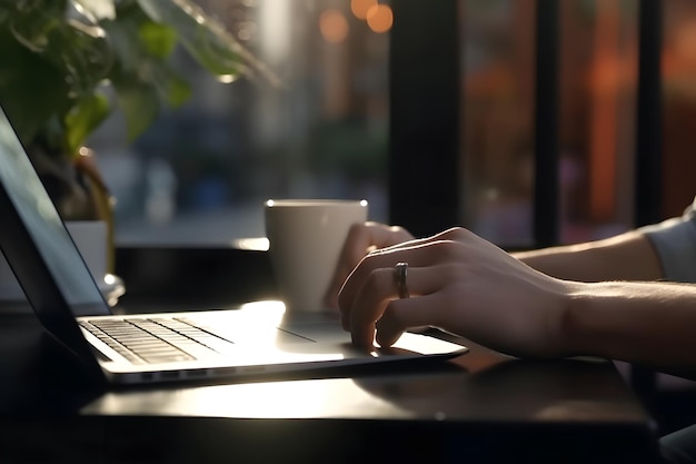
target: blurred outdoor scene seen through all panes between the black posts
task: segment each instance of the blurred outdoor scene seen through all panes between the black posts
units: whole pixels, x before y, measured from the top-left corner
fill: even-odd
[[[425,0],[424,0],[425,1]],[[219,82],[135,145],[109,120],[89,145],[116,196],[120,246],[220,246],[264,236],[271,197],[365,198],[389,221],[389,31],[385,0],[197,0],[280,78]],[[430,2],[438,8],[437,2]],[[638,2],[559,2],[560,240],[634,224]],[[662,213],[696,192],[696,2],[664,1]],[[459,225],[533,244],[536,0],[459,0]],[[437,53],[438,50],[432,50]],[[187,59],[183,55],[181,60]],[[186,63],[185,63],[186,65]],[[418,56],[412,66],[418,67]]]

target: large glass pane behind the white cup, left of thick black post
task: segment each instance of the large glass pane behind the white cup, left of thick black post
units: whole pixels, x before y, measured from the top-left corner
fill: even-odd
[[[366,18],[360,4],[376,1],[197,2],[281,86],[225,85],[181,55],[190,101],[132,146],[118,117],[102,127],[91,146],[118,201],[117,244],[264,236],[270,197],[365,198],[370,217],[386,220],[388,6]]]

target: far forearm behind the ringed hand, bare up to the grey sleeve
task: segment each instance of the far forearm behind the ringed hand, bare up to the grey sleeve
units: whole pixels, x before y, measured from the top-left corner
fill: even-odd
[[[635,231],[605,240],[515,253],[513,256],[544,274],[566,280],[657,280],[663,277],[653,245]]]

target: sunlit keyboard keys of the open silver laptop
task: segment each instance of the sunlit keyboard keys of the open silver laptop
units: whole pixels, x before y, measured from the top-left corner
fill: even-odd
[[[80,326],[133,364],[219,357],[235,346],[185,318],[89,319]]]

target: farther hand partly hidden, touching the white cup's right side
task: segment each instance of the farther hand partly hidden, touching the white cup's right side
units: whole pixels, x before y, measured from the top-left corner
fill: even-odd
[[[326,293],[327,305],[338,308],[338,292],[350,272],[367,254],[412,238],[414,236],[408,230],[398,226],[386,226],[379,223],[354,225],[348,233],[334,278]]]

